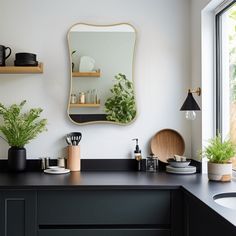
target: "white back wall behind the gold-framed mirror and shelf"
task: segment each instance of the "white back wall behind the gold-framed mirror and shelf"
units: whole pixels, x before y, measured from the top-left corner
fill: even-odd
[[[0,75],[0,101],[28,101],[48,118],[48,132],[27,145],[28,157],[64,155],[63,137],[83,133],[83,158],[127,158],[132,138],[140,138],[144,156],[151,137],[160,129],[179,131],[191,152],[190,123],[179,111],[190,85],[190,32],[188,0],[0,0],[0,43],[13,53],[38,54],[42,75]],[[76,126],[67,118],[70,63],[66,35],[78,22],[128,22],[137,29],[134,76],[137,120],[129,126],[94,124]],[[12,62],[14,56],[11,57]],[[8,145],[0,141],[0,158]]]

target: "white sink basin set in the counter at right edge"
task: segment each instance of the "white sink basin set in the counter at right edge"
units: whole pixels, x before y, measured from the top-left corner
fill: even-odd
[[[213,197],[213,199],[221,206],[236,210],[236,192],[217,194]]]

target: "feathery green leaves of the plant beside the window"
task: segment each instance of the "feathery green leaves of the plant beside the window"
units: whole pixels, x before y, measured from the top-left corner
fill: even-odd
[[[236,155],[236,147],[231,140],[222,140],[221,135],[210,139],[209,145],[201,153],[211,163],[227,163]]]

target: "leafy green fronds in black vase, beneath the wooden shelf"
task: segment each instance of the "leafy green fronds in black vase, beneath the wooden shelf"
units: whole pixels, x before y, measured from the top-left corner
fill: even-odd
[[[26,168],[25,145],[37,135],[46,130],[47,120],[39,119],[41,108],[32,108],[27,112],[22,112],[26,101],[19,105],[13,104],[10,107],[0,103],[0,131],[3,138],[8,142],[8,167],[13,171],[23,171]]]

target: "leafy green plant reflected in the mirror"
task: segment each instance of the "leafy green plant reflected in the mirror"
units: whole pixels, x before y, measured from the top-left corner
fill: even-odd
[[[124,74],[115,76],[116,83],[110,90],[112,96],[105,102],[107,120],[129,123],[136,116],[133,83]]]

